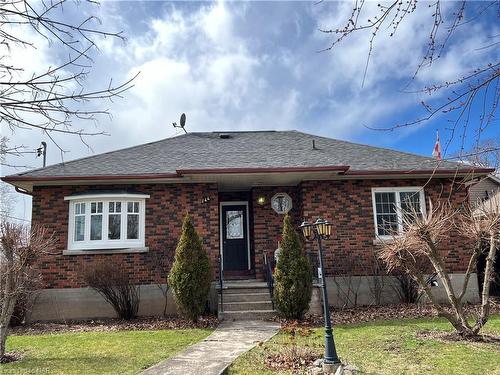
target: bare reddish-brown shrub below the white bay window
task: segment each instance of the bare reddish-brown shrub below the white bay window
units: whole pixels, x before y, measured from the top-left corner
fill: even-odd
[[[83,271],[83,279],[116,311],[119,318],[130,320],[139,311],[139,286],[130,281],[128,271],[113,263],[97,263]]]

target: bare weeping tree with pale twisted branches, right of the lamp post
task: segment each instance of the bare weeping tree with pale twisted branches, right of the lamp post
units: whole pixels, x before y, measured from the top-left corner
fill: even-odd
[[[448,204],[433,207],[430,202],[427,214],[404,216],[405,231],[401,236],[394,236],[392,241],[384,244],[380,256],[388,266],[389,271],[403,269],[418,283],[419,287],[437,309],[440,316],[445,317],[462,337],[477,336],[489,317],[490,303],[489,290],[493,280],[493,264],[500,240],[500,209],[499,207],[483,210],[482,212],[468,210],[454,210]],[[469,239],[469,265],[465,272],[464,282],[459,290],[455,291],[451,284],[450,275],[445,268],[446,252],[441,249],[442,243],[452,236],[461,234]],[[485,276],[481,295],[481,307],[475,322],[467,320],[463,298],[471,274],[476,268],[479,255],[484,249],[483,242],[487,241],[487,257]],[[428,280],[425,278],[423,262],[430,262],[436,277],[446,292],[449,309],[442,306]]]

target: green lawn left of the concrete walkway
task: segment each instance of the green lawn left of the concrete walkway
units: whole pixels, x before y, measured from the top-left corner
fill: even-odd
[[[0,374],[138,374],[212,332],[211,329],[118,331],[10,336],[7,350],[22,360]]]

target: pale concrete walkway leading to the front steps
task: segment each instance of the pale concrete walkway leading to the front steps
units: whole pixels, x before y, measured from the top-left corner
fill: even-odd
[[[205,340],[141,375],[219,375],[238,356],[273,337],[279,325],[265,321],[223,321]]]

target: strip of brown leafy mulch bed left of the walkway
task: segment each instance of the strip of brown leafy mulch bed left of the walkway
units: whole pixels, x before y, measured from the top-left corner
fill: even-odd
[[[198,322],[181,318],[141,317],[132,320],[99,319],[68,322],[38,322],[12,327],[15,335],[40,335],[63,332],[112,332],[150,331],[160,329],[215,328],[219,324],[215,316],[201,317]]]

